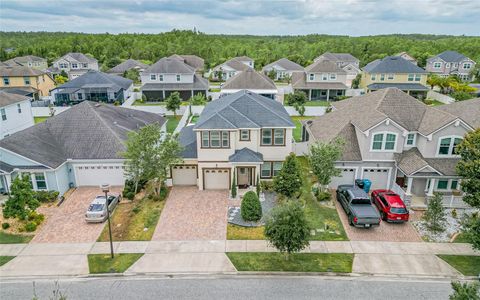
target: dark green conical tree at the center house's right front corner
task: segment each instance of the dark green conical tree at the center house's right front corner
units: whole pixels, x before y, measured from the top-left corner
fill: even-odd
[[[302,186],[300,166],[294,153],[290,153],[282,169],[273,178],[273,190],[287,198],[294,196]]]

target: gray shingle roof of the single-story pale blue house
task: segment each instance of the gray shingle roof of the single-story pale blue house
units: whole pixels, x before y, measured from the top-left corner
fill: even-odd
[[[67,159],[118,159],[129,132],[164,122],[157,114],[84,101],[0,140],[0,148],[51,168]]]

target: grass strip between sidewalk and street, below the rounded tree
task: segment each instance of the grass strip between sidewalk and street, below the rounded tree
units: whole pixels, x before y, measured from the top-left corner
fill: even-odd
[[[294,253],[286,260],[278,252],[227,252],[238,271],[351,273],[353,254]]]

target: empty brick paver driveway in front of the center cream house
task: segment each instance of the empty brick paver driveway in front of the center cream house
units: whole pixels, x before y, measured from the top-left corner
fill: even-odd
[[[152,240],[225,240],[228,191],[175,186]]]

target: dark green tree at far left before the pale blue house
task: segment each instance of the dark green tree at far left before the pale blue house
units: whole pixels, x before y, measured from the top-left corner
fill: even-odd
[[[35,211],[40,202],[32,189],[29,175],[17,176],[10,186],[10,196],[5,202],[3,216],[25,220],[30,212]]]

